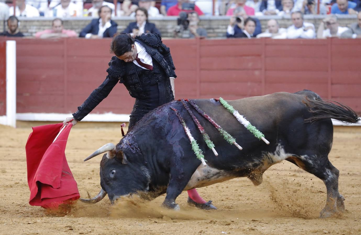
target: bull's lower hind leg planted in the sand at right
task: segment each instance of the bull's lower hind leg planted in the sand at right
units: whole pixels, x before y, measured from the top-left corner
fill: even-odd
[[[345,198],[338,191],[339,170],[334,167],[328,157],[303,156],[288,158],[303,170],[317,176],[326,185],[326,206],[320,212],[320,218],[327,218],[332,214],[345,211]]]

